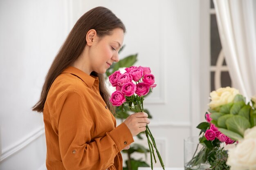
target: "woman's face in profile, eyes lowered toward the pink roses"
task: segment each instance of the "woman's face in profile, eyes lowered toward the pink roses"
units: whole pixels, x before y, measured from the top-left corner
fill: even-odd
[[[123,42],[124,31],[120,28],[112,30],[111,35],[94,38],[89,53],[91,70],[97,73],[106,73],[113,62],[119,61],[118,51]]]

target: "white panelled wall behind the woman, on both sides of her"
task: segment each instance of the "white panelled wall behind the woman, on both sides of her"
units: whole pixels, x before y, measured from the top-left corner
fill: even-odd
[[[197,135],[195,126],[204,113],[200,75],[205,63],[200,59],[207,52],[200,48],[204,41],[200,11],[208,4],[200,2],[1,0],[1,159],[9,157],[0,161],[0,169],[44,168],[42,115],[30,108],[68,31],[83,13],[97,6],[108,7],[126,25],[126,47],[120,57],[138,53],[137,65],[150,66],[155,75],[157,87],[145,100],[145,108],[153,115],[150,129],[165,166],[182,167],[183,139]],[[137,142],[146,145],[146,141]],[[22,144],[25,147],[20,150]],[[12,150],[18,152],[12,154]],[[25,167],[31,158],[36,163]]]

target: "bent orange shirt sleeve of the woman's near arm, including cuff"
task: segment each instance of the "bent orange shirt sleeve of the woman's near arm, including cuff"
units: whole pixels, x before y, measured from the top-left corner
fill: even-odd
[[[125,146],[133,142],[122,123],[104,137],[92,139],[95,117],[79,93],[66,91],[58,99],[56,116],[61,158],[66,170],[106,170]]]

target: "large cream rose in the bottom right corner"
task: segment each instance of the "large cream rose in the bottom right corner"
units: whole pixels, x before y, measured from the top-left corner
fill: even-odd
[[[230,170],[256,170],[256,139],[244,139],[229,149],[227,165]]]

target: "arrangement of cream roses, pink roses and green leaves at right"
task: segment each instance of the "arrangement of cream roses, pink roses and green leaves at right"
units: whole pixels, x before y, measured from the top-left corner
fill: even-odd
[[[206,122],[197,126],[204,147],[188,164],[209,163],[211,170],[256,170],[256,97],[246,104],[245,97],[230,87],[210,96]],[[238,144],[227,152],[221,143]]]

